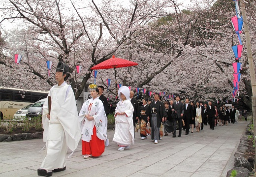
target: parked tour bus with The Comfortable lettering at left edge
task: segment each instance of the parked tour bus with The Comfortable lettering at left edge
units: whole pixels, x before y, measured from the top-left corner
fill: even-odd
[[[48,91],[0,87],[0,118],[12,119],[17,110],[46,98]]]

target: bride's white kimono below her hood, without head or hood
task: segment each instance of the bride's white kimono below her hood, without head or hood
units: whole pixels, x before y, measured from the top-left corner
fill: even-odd
[[[120,100],[117,103],[116,113],[126,113],[126,115],[115,115],[116,121],[113,142],[116,142],[119,146],[134,144],[133,110],[134,108],[130,100]]]

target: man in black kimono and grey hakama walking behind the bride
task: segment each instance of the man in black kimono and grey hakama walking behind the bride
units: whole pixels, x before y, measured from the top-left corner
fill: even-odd
[[[160,126],[161,121],[164,121],[164,117],[166,117],[165,108],[163,103],[159,101],[160,95],[159,93],[155,93],[154,100],[148,107],[148,121],[150,121],[151,126],[151,139],[155,141],[155,144],[160,140]]]

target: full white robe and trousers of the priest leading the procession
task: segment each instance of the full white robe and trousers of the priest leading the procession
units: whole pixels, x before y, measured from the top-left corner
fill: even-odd
[[[41,169],[54,170],[65,166],[67,147],[74,151],[81,139],[74,92],[65,82],[61,86],[53,86],[51,96],[52,107],[50,119],[48,99],[43,105],[43,141],[46,142],[45,157]]]

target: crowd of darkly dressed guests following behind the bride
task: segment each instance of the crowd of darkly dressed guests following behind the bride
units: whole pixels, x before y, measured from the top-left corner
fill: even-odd
[[[182,130],[185,131],[185,135],[189,135],[194,131],[202,131],[207,124],[211,130],[214,130],[216,126],[237,123],[238,118],[242,117],[241,110],[234,106],[230,108],[224,104],[218,109],[216,105],[212,105],[212,102],[203,104],[200,101],[190,101],[189,98],[186,98],[184,102],[180,100],[179,95],[175,97],[175,100],[164,102],[161,101],[158,93],[155,93],[154,100],[144,98],[141,107],[134,107],[134,113],[133,124],[138,120],[141,122],[141,139],[147,139],[149,136],[147,134],[149,126],[147,125],[150,124],[150,136],[156,144],[163,134],[168,136],[168,133],[172,133],[173,138],[181,137]]]

